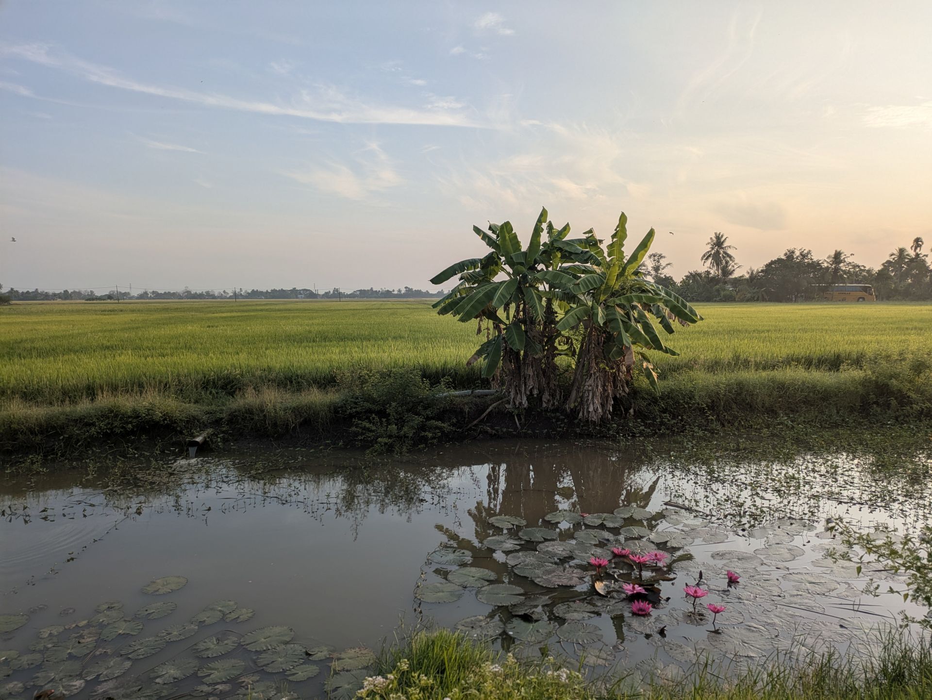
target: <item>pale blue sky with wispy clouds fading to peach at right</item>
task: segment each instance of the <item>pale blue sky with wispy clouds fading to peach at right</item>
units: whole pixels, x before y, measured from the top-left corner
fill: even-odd
[[[0,283],[432,289],[541,206],[676,276],[715,231],[876,267],[932,244],[930,36],[927,0],[0,0]]]

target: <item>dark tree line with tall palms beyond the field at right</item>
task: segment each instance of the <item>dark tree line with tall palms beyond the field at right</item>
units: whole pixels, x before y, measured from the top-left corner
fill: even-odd
[[[876,268],[856,263],[842,250],[819,258],[808,248],[789,248],[760,268],[739,274],[734,246],[716,232],[700,257],[704,269],[691,270],[676,281],[667,273],[671,263],[662,253],[648,255],[641,269],[689,301],[810,301],[822,298],[817,285],[844,283],[870,284],[878,299],[928,301],[932,268],[924,245],[917,237],[909,248],[898,247]]]

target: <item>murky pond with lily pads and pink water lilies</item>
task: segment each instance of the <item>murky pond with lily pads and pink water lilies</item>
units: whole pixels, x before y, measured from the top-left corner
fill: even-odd
[[[706,656],[741,670],[863,653],[901,612],[925,611],[863,594],[869,572],[830,556],[826,518],[910,531],[932,515],[927,496],[845,454],[691,460],[541,441],[7,479],[0,700],[348,698],[383,641],[426,624],[631,682]]]

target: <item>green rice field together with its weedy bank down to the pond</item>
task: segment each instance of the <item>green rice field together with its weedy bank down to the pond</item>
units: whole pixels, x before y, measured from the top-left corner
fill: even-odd
[[[706,305],[637,382],[634,418],[515,419],[465,360],[472,323],[429,302],[36,303],[0,309],[0,451],[301,432],[407,448],[474,434],[839,426],[932,417],[932,305]],[[484,416],[487,408],[491,411]],[[474,423],[474,424],[473,424]]]

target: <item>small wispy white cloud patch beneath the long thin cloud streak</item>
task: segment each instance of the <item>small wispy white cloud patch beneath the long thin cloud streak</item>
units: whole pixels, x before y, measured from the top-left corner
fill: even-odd
[[[305,172],[283,172],[302,185],[346,199],[366,199],[369,195],[401,185],[404,180],[395,171],[391,158],[375,142],[353,154],[352,162],[330,161],[323,167]]]

